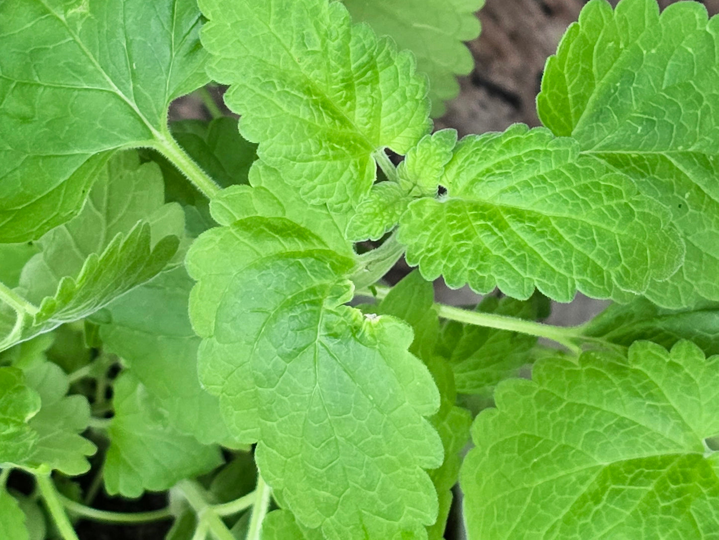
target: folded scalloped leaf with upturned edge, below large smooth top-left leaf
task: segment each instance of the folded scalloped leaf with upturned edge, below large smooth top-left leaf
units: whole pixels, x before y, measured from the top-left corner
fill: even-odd
[[[16,290],[39,310],[22,314],[18,336],[14,312],[2,306],[0,349],[87,317],[147,282],[175,254],[182,232],[182,211],[164,204],[157,165],[140,165],[134,152],[111,159],[82,212],[37,240],[42,251],[24,266]]]

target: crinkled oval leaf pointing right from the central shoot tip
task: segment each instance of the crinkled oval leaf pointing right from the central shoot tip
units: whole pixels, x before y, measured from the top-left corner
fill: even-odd
[[[628,301],[682,262],[664,207],[547,130],[515,125],[464,138],[441,185],[446,196],[409,205],[398,239],[409,264],[449,287]]]

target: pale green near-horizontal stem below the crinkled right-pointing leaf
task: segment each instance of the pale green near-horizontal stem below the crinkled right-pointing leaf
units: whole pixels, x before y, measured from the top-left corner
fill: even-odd
[[[383,287],[382,285],[376,285],[372,289],[374,291],[362,289],[357,292],[357,295],[375,297],[381,300],[392,290],[391,287]],[[519,332],[538,338],[547,338],[568,348],[574,354],[581,354],[582,352],[582,348],[574,342],[575,339],[581,338],[576,328],[546,325],[537,323],[534,320],[497,315],[496,313],[463,310],[459,307],[444,304],[434,304],[434,308],[439,317],[443,319],[456,320],[459,323],[485,326],[487,328],[497,328],[498,330],[510,330],[511,332]]]

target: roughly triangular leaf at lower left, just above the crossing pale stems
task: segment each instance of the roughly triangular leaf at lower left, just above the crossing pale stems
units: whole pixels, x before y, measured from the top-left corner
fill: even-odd
[[[217,446],[205,446],[172,426],[132,374],[114,384],[115,416],[107,430],[110,447],[104,465],[110,495],[139,497],[164,491],[184,478],[210,472],[222,463]]]

